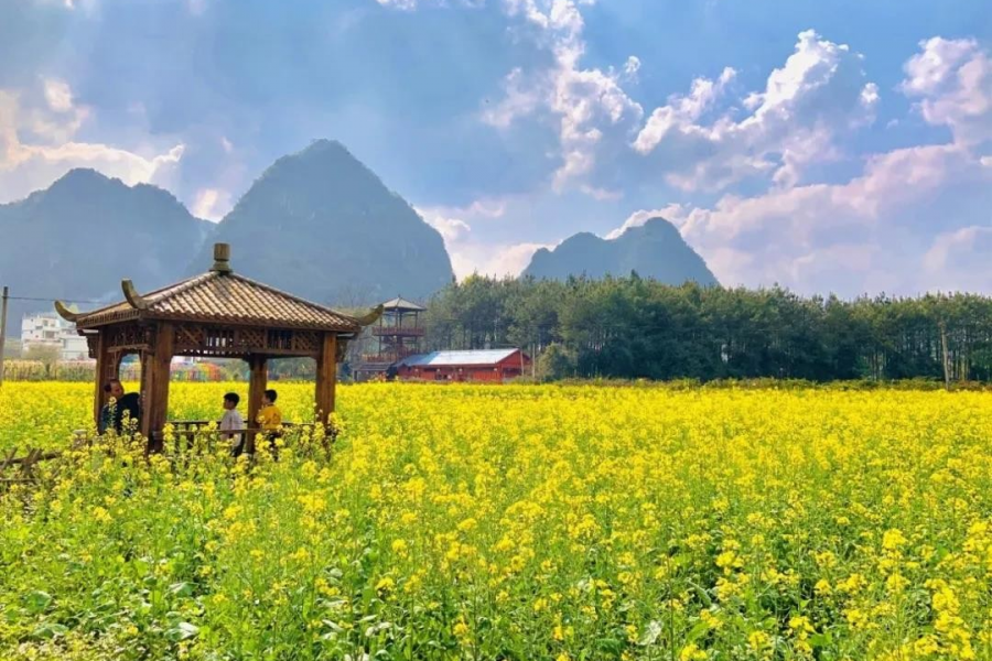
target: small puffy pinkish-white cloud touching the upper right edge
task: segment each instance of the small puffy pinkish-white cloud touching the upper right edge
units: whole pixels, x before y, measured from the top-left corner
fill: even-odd
[[[992,58],[974,40],[939,36],[904,67],[903,91],[920,99],[924,119],[946,124],[955,141],[974,145],[992,140]]]

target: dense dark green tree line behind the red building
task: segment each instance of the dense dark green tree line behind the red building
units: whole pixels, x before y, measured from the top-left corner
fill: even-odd
[[[845,301],[779,286],[473,275],[433,296],[429,349],[521,347],[548,378],[992,379],[992,299]]]

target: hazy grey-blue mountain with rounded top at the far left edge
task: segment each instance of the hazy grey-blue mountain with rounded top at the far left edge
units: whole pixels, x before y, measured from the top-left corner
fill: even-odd
[[[211,227],[168,191],[72,170],[45,191],[0,205],[0,283],[11,296],[117,300],[121,278],[142,289],[173,281]],[[39,310],[51,312],[51,302],[12,301],[11,335],[23,314]]]

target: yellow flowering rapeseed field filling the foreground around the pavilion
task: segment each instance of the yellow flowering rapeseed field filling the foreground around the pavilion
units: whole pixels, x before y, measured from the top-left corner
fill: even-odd
[[[230,384],[175,384],[179,418]],[[89,386],[8,383],[0,451]],[[244,392],[241,392],[244,394]],[[981,393],[368,384],[0,494],[0,659],[989,659]],[[287,418],[312,386],[282,386]]]

